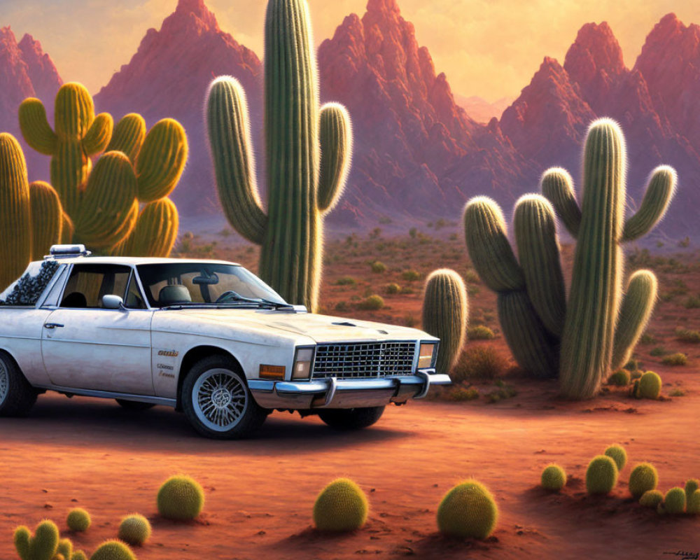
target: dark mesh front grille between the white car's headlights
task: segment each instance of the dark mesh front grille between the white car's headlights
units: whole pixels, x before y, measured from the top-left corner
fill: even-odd
[[[357,379],[410,375],[415,356],[416,342],[319,344],[316,346],[312,377]]]

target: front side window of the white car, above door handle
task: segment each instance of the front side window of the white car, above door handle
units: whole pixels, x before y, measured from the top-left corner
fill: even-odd
[[[102,309],[104,295],[124,299],[131,272],[120,265],[73,265],[60,307]]]

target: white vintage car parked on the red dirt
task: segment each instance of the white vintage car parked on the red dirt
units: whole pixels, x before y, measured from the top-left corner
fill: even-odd
[[[0,303],[0,416],[57,391],[171,406],[200,434],[235,438],[274,409],[365,428],[450,382],[435,337],[310,314],[232,262],[54,246]]]

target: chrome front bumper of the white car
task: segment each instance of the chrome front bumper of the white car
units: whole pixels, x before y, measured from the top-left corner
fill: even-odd
[[[419,370],[414,375],[378,379],[312,379],[311,381],[269,381],[248,379],[253,398],[263,408],[311,409],[355,408],[404,403],[423,398],[431,385],[449,385],[449,375]]]

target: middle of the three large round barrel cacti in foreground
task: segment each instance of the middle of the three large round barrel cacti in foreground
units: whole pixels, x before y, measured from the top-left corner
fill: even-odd
[[[356,531],[367,521],[367,496],[350,479],[326,486],[314,503],[314,524],[320,531]]]

